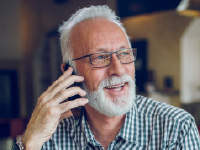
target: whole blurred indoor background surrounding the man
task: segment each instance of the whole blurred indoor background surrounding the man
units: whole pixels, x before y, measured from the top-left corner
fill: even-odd
[[[200,125],[200,0],[1,0],[0,149],[10,149],[62,74],[59,25],[104,4],[138,50],[137,93],[185,109]]]

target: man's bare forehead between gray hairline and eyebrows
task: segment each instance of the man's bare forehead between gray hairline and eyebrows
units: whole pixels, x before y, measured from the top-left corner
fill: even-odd
[[[87,20],[78,23],[73,29],[72,37],[74,48],[79,48],[78,55],[81,56],[95,52],[98,49],[106,49],[104,43],[112,44],[116,41],[120,42],[122,39],[126,43],[123,30],[115,23],[105,19]],[[77,50],[75,51],[77,53]]]

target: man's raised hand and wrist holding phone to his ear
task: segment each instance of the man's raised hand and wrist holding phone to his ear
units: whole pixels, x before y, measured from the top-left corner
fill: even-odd
[[[70,67],[38,98],[37,106],[22,137],[22,143],[27,150],[41,149],[44,142],[55,132],[59,121],[71,116],[72,108],[83,106],[88,102],[85,98],[63,102],[76,94],[86,95],[80,87],[69,87],[74,82],[84,80],[81,76],[71,75],[72,71]]]

